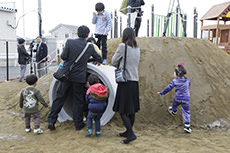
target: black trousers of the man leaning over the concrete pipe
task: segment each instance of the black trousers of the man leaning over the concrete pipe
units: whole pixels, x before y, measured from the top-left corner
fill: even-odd
[[[70,81],[59,81],[56,90],[56,97],[53,100],[51,112],[48,116],[48,123],[55,124],[58,113],[61,111],[66,97],[69,92],[73,92],[73,121],[76,128],[80,128],[83,123],[83,103],[85,96],[84,83],[76,83]]]

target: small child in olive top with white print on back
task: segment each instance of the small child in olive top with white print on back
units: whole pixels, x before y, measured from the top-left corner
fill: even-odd
[[[24,111],[24,120],[26,126],[26,133],[31,131],[30,128],[30,118],[31,115],[34,116],[34,133],[42,134],[43,131],[40,129],[40,113],[38,110],[38,102],[40,102],[45,107],[48,104],[43,99],[40,90],[35,88],[37,85],[38,78],[35,75],[29,75],[26,77],[26,83],[29,85],[22,90],[19,100],[19,106]]]

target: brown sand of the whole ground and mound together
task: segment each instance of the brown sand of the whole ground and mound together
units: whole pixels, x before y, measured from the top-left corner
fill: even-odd
[[[108,40],[108,63],[120,41]],[[75,131],[72,121],[57,123],[57,130],[49,131],[49,109],[41,105],[44,134],[27,134],[18,106],[19,93],[26,83],[14,80],[0,83],[0,152],[230,152],[230,56],[206,40],[193,38],[138,38],[138,45],[141,111],[134,125],[136,141],[120,143],[122,138],[116,133],[125,129],[118,114],[102,127],[101,138],[85,137],[86,128]],[[181,109],[175,118],[167,112],[174,90],[157,95],[173,79],[173,70],[182,61],[192,83],[192,134],[183,131]],[[52,72],[37,86],[47,102],[51,80]]]

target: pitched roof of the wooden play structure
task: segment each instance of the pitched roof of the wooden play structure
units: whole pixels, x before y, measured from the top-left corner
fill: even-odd
[[[208,10],[208,12],[200,20],[217,20],[222,17],[221,20],[230,20],[230,1],[214,5]],[[228,14],[229,13],[229,14]]]

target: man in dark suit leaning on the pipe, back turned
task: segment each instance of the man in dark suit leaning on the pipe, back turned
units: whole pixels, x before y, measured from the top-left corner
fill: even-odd
[[[85,48],[89,35],[89,28],[80,26],[78,28],[78,39],[68,39],[65,48],[61,54],[64,60],[63,68],[69,68],[80,53]],[[87,77],[87,61],[90,56],[93,56],[100,63],[102,58],[94,50],[93,45],[89,45],[86,52],[79,59],[76,66],[72,69],[69,80],[60,81],[57,86],[56,97],[53,100],[51,112],[48,116],[48,129],[55,130],[55,123],[58,118],[58,113],[64,105],[65,98],[72,90],[73,92],[73,121],[76,130],[81,130],[85,124],[83,123],[83,102],[85,97],[85,84]]]

